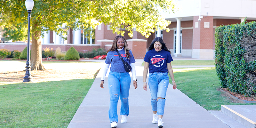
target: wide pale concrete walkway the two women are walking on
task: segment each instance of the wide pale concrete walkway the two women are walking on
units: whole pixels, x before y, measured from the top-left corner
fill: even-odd
[[[127,117],[127,123],[121,124],[121,116],[119,116],[118,128],[157,128],[157,124],[152,124],[153,114],[150,90],[145,91],[142,89],[144,68],[140,66],[142,61],[142,59],[139,59],[135,63],[138,88],[134,90],[131,82],[129,95],[130,113]],[[110,128],[108,119],[108,79],[105,79],[104,89],[101,89],[101,75],[102,70],[100,70],[95,78],[92,87],[76,111],[68,128]],[[120,113],[120,106],[121,101],[119,100],[118,115]],[[163,122],[165,123],[165,128],[230,128],[178,89],[173,90],[170,83],[166,94]]]

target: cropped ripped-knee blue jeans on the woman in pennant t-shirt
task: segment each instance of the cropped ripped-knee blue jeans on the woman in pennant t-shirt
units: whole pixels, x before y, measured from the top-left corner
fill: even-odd
[[[151,93],[151,106],[157,115],[164,115],[164,105],[166,91],[169,85],[169,76],[167,72],[149,73],[148,87]],[[156,101],[158,97],[164,98]]]

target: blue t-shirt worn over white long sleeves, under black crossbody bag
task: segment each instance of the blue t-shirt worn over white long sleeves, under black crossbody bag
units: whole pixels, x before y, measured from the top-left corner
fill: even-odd
[[[129,57],[129,59],[126,59],[126,55],[123,50],[118,51],[120,53],[120,55],[122,56],[122,58],[124,59],[125,62],[127,63],[135,63],[135,59],[132,55],[132,51],[130,50],[130,54],[131,56]],[[110,64],[111,63],[111,67],[110,67],[110,71],[112,72],[126,72],[124,69],[124,64],[122,62],[122,60],[119,58],[118,54],[116,51],[109,51],[105,60],[106,64]]]

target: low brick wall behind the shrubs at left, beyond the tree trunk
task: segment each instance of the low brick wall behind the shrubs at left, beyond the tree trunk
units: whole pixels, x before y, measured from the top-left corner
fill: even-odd
[[[8,49],[10,51],[13,50],[19,50],[23,51],[24,48],[27,46],[25,43],[0,43],[0,49]],[[42,44],[42,51],[44,48],[53,48],[55,50],[56,48],[60,47],[61,51],[68,51],[70,47],[74,47],[78,52],[91,52],[94,49],[99,49],[99,44]],[[30,44],[31,49],[31,44]]]

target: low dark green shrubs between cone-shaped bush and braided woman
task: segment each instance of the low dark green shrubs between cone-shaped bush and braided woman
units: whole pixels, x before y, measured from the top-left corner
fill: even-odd
[[[82,53],[82,52],[79,52],[79,56],[80,58],[93,58],[95,56],[102,56],[102,55],[106,55],[107,52],[106,50],[102,49],[102,48],[99,48],[97,50],[93,49],[92,52],[85,52],[85,53]]]

